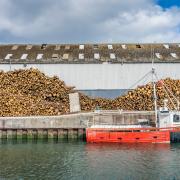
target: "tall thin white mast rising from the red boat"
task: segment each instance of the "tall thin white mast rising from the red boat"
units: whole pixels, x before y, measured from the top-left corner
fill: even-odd
[[[154,98],[154,111],[155,111],[155,123],[158,126],[158,112],[157,112],[157,94],[156,94],[156,82],[155,82],[155,67],[154,67],[154,44],[151,44],[151,58],[152,58],[152,85],[153,85],[153,98]]]

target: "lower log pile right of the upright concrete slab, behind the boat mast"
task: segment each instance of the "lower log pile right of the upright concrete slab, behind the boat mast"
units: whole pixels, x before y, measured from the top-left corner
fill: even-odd
[[[164,99],[168,99],[169,109],[177,107],[177,100],[180,101],[180,80],[167,78],[156,83],[157,105],[163,107]],[[90,99],[81,97],[81,106],[83,110],[94,110],[96,107],[105,110],[133,110],[133,111],[152,111],[154,110],[153,86],[152,83],[137,87],[135,90],[127,92],[114,100],[108,99]]]

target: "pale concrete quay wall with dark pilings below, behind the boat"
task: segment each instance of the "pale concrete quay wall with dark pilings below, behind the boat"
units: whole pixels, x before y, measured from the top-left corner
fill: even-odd
[[[85,139],[91,124],[153,122],[153,112],[102,111],[61,116],[0,117],[0,139]]]

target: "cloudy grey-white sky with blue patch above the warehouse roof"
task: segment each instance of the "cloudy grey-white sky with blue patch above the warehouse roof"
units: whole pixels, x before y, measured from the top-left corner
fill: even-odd
[[[180,0],[0,0],[0,43],[180,42]]]

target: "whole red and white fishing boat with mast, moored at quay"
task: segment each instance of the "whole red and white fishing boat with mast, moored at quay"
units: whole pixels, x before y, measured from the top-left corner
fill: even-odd
[[[157,77],[155,69],[152,68],[152,77]],[[180,112],[179,101],[167,89],[177,103],[176,111],[169,111],[167,102],[164,107],[157,109],[156,83],[153,78],[153,95],[155,108],[155,125],[149,125],[146,120],[139,120],[136,124],[101,124],[91,123],[86,129],[87,142],[116,142],[116,143],[170,143],[180,142]],[[163,81],[158,82],[162,85]],[[165,87],[166,88],[166,87]],[[170,96],[168,96],[170,97]],[[171,100],[171,102],[173,102]],[[98,112],[99,113],[99,112]],[[98,114],[97,113],[97,114]]]

